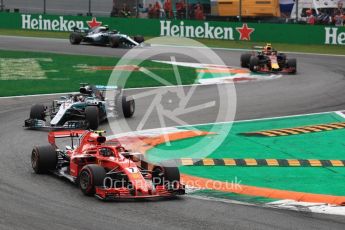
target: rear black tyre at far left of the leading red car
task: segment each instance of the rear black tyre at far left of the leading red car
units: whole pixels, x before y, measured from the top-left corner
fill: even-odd
[[[52,145],[36,146],[31,153],[31,166],[37,174],[56,169],[57,155]]]

